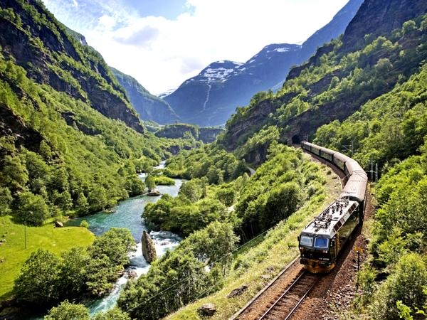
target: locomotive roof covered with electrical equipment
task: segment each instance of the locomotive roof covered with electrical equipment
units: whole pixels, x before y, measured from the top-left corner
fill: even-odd
[[[358,206],[357,201],[340,198],[331,203],[320,215],[317,215],[315,220],[302,230],[302,233],[332,239]]]

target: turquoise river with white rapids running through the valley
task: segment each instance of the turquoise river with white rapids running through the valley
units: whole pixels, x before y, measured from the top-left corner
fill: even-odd
[[[144,174],[140,175],[140,178],[144,179]],[[167,193],[170,196],[176,196],[179,188],[181,187],[181,179],[174,179],[174,186],[157,186],[160,193]],[[130,269],[134,270],[139,277],[141,274],[147,273],[149,270],[149,264],[142,257],[141,249],[141,236],[147,227],[144,225],[141,219],[141,213],[144,211],[144,206],[147,203],[152,203],[159,200],[160,197],[152,196],[137,196],[129,198],[125,201],[120,201],[114,208],[112,213],[94,213],[92,215],[86,215],[85,217],[75,218],[69,220],[66,225],[80,225],[82,220],[86,220],[89,223],[89,230],[95,235],[102,235],[110,228],[128,228],[137,242],[137,250],[130,254]],[[173,233],[159,231],[149,233],[154,240],[156,245],[157,256],[161,256],[167,250],[170,250],[179,244],[181,240],[177,235]],[[107,297],[97,299],[88,305],[90,314],[96,314],[100,311],[106,311],[115,306],[120,292],[127,282],[127,277],[123,276],[117,280],[114,289]]]

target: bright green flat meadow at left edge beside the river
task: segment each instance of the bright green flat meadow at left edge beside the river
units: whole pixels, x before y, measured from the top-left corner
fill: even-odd
[[[0,302],[11,297],[14,280],[31,252],[43,248],[60,255],[71,247],[87,247],[95,240],[95,235],[85,228],[54,228],[53,223],[24,228],[14,223],[10,216],[3,216],[0,217],[1,240],[6,242],[0,243]]]

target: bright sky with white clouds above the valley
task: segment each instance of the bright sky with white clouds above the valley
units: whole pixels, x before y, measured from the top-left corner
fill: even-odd
[[[218,60],[245,63],[272,43],[302,43],[348,0],[43,0],[108,65],[154,95]]]

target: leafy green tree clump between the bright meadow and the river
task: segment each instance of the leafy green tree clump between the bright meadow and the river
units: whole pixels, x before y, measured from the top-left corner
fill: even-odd
[[[15,281],[16,299],[20,304],[49,307],[63,299],[107,294],[123,266],[129,264],[127,254],[134,248],[135,240],[129,230],[112,228],[87,250],[74,247],[57,257],[39,249],[31,254]],[[55,316],[67,314],[64,309],[73,310],[74,306],[64,303]]]

